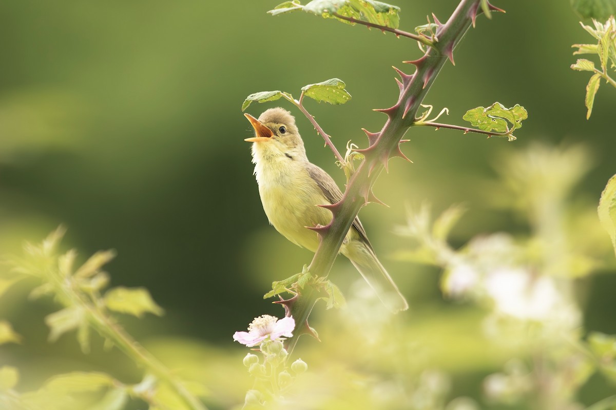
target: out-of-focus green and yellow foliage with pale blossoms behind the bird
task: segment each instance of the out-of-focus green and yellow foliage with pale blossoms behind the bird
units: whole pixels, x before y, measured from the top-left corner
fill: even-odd
[[[400,28],[412,31],[456,4],[405,4]],[[296,349],[309,370],[293,385],[294,403],[546,410],[540,400],[584,408],[614,395],[614,253],[596,206],[615,172],[616,93],[598,93],[586,121],[587,79],[569,69],[570,44],[586,33],[564,3],[496,5],[507,14],[477,20],[426,103],[447,106],[455,123],[485,101],[519,102],[532,113],[524,137],[505,144],[445,129],[407,133],[403,150],[414,164],[392,161],[375,186],[391,208],[370,206],[361,216],[411,310],[383,312],[354,269],[337,261],[332,280],[347,307],[317,305],[311,325],[323,342],[302,337]],[[24,239],[60,223],[70,228],[67,248],[115,249],[111,284],[145,286],[165,312],[123,323],[168,368],[206,385],[211,409],[241,408],[252,382],[232,334],[263,313],[281,316],[262,294],[311,258],[267,225],[241,102],[255,90],[343,78],[351,101],[307,108],[338,149],[348,140],[363,148],[361,128],[383,124],[370,110],[395,102],[389,67],[419,57],[408,39],[303,13],[267,15],[274,6],[247,2],[229,22],[193,0],[0,3],[0,253],[20,253]],[[296,117],[312,162],[342,185],[330,151]],[[468,280],[464,264],[458,273],[448,265],[441,279],[441,268],[424,263],[430,253],[422,263],[386,258],[416,250],[415,239],[392,231],[417,217],[405,204],[417,210],[424,200],[433,210],[464,203],[464,215],[456,208],[426,227],[472,261],[476,294],[441,291],[466,283],[453,280]],[[490,280],[495,264],[507,269]],[[57,306],[27,301],[30,280],[2,278],[1,392],[36,392],[53,375],[75,372],[113,374],[114,385],[147,390],[142,369],[105,352],[102,341],[92,341],[89,355],[68,335],[48,344],[44,318]],[[548,320],[564,332],[546,327],[553,312],[567,313],[569,320]],[[78,395],[90,404],[126,400],[110,391],[116,396],[104,388]],[[614,400],[603,403],[594,409],[614,408]],[[132,398],[126,408],[144,405]]]

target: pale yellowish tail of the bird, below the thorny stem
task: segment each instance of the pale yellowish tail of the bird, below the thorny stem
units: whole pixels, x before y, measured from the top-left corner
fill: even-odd
[[[352,241],[352,245],[347,245],[342,254],[351,260],[389,310],[396,313],[408,309],[407,299],[402,296],[398,286],[376,258],[375,251],[370,245],[361,241]]]

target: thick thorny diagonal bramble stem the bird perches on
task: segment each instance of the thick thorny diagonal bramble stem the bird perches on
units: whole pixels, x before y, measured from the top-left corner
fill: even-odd
[[[442,25],[438,32],[439,41],[434,45],[440,50],[453,50],[456,44],[466,33],[479,8],[480,0],[461,0],[447,23]],[[318,277],[327,277],[333,266],[336,256],[342,245],[344,237],[351,228],[357,213],[367,202],[367,192],[376,181],[384,168],[383,159],[387,160],[394,149],[397,149],[400,140],[408,128],[413,125],[421,101],[428,92],[432,82],[440,69],[447,61],[445,53],[429,47],[424,60],[417,65],[413,79],[403,87],[398,102],[387,111],[388,119],[380,132],[378,141],[370,147],[370,156],[366,155],[355,173],[349,179],[344,198],[339,203],[336,216],[333,218],[328,231],[322,235],[317,252],[310,262],[309,272]],[[307,318],[317,299],[314,289],[304,290],[291,306],[291,313],[296,319],[296,331],[288,341],[291,352],[297,343],[298,337],[306,332]]]

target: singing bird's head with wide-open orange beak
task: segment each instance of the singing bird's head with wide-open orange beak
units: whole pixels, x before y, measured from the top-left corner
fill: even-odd
[[[304,141],[299,136],[295,118],[286,109],[277,107],[264,111],[258,119],[244,114],[254,128],[254,136],[245,141],[254,143],[253,153],[259,156],[286,156],[306,159]]]

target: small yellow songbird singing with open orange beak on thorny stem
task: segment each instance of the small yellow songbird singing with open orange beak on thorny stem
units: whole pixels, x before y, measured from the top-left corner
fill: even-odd
[[[318,234],[307,227],[330,223],[331,212],[317,205],[342,199],[342,192],[328,173],[311,164],[295,118],[283,108],[270,108],[259,119],[244,114],[254,128],[254,175],[265,215],[286,239],[312,252]],[[379,299],[392,312],[408,309],[404,296],[376,258],[366,231],[355,218],[340,252],[349,258]]]

